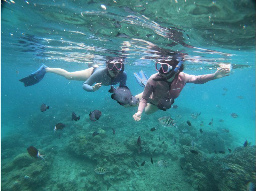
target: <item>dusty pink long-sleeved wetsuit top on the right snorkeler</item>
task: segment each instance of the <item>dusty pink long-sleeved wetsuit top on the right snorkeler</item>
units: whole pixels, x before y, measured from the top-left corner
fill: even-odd
[[[155,73],[148,79],[140,100],[138,111],[140,110],[143,112],[148,102],[156,105],[157,102],[164,97],[176,99],[186,83],[204,84],[207,81],[214,80],[213,74],[195,76],[180,72],[178,75],[176,74],[172,80],[171,87],[169,88],[169,83],[166,81],[153,80],[158,76],[159,73]]]

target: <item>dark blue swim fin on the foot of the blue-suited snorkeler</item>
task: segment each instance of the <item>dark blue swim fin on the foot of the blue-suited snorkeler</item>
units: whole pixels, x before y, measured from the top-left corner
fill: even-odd
[[[41,81],[44,78],[44,74],[46,73],[45,71],[46,67],[47,66],[42,65],[38,70],[36,70],[36,72],[33,72],[27,77],[20,79],[20,81],[24,83],[25,87],[37,84],[39,81]]]

